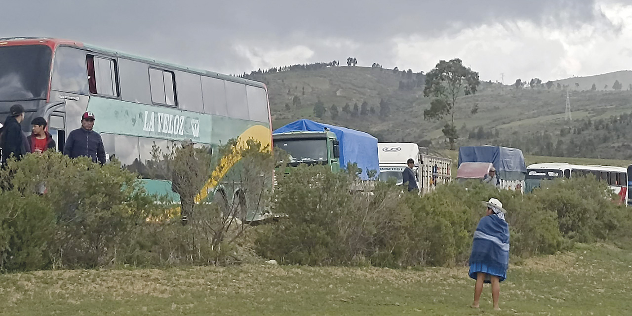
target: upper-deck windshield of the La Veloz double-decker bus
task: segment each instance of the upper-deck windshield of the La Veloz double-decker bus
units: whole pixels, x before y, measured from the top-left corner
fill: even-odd
[[[46,99],[51,56],[44,45],[0,47],[0,102]]]

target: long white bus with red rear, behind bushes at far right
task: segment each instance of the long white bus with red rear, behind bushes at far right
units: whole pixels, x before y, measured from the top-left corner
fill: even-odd
[[[572,179],[588,176],[588,174],[607,182],[612,191],[621,198],[620,202],[624,205],[628,204],[628,169],[624,167],[583,166],[566,162],[532,164],[526,167],[525,193],[539,187],[542,180]]]

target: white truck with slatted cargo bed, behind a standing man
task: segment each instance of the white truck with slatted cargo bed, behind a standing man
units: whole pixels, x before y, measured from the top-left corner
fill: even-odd
[[[380,162],[380,181],[395,178],[397,185],[402,185],[402,173],[407,167],[406,161],[415,160],[413,171],[417,177],[417,186],[421,193],[433,191],[439,183],[452,181],[452,160],[425,154],[416,143],[378,143]]]

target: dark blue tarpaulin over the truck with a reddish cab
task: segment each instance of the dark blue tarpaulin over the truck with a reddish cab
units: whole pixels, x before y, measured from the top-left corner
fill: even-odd
[[[491,162],[496,174],[505,180],[524,180],[525,156],[522,150],[499,146],[467,146],[459,148],[459,166],[463,162]]]

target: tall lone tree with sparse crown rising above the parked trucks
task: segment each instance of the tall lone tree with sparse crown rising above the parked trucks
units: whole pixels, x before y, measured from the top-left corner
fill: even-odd
[[[443,132],[450,142],[451,149],[454,149],[454,142],[458,139],[456,126],[454,126],[456,99],[461,94],[475,94],[479,84],[478,73],[463,66],[463,62],[458,58],[451,61],[439,61],[437,66],[426,74],[423,95],[434,97],[434,99],[430,102],[430,109],[423,111],[423,118],[444,119],[446,116],[450,117]]]

